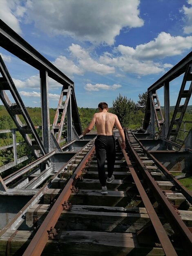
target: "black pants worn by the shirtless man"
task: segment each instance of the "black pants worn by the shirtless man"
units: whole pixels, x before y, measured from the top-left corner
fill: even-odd
[[[114,136],[97,135],[95,139],[95,150],[98,166],[98,177],[101,186],[106,186],[105,160],[107,158],[108,177],[112,177],[116,157]]]

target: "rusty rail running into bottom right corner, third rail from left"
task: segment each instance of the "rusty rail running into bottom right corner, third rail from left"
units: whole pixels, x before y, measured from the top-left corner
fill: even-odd
[[[159,188],[155,180],[152,178],[147,168],[145,168],[144,164],[141,162],[138,154],[135,152],[134,148],[131,145],[128,132],[126,131],[126,139],[129,146],[129,150],[131,151],[134,159],[141,167],[141,172],[145,180],[147,181],[148,186],[152,189],[154,193],[154,197],[157,202],[163,207],[164,215],[167,220],[170,222],[170,225],[176,234],[179,234],[181,237],[181,242],[183,244],[183,248],[186,251],[186,255],[190,255],[192,249],[192,234],[188,227],[186,227],[185,223],[181,220],[179,215],[176,213],[175,209],[172,207],[170,202],[167,200],[162,190]],[[141,145],[141,143],[137,140],[137,142]]]

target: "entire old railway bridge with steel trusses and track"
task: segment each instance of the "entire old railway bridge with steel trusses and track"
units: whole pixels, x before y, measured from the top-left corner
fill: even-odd
[[[148,88],[143,126],[125,129],[125,150],[114,130],[115,180],[102,195],[96,134],[82,135],[74,82],[2,20],[0,47],[39,70],[42,111],[42,126],[36,127],[0,56],[0,99],[16,126],[0,130],[12,136],[0,150],[11,148],[14,155],[0,166],[0,256],[191,255],[192,193],[179,178],[192,176],[192,123],[184,119],[192,52]],[[171,117],[170,86],[179,76]],[[63,86],[53,124],[48,77]],[[30,154],[18,158],[20,144]]]

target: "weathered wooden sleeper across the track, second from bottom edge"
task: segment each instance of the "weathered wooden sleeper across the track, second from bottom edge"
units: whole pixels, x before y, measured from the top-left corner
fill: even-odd
[[[49,212],[49,204],[42,205],[38,212],[38,204],[33,205],[26,213],[26,224],[33,226],[33,220],[41,225]],[[35,216],[34,216],[35,213]],[[192,212],[179,211],[180,218],[188,227],[192,227]],[[159,216],[167,234],[172,235],[172,228],[163,216]],[[123,207],[96,207],[73,205],[70,211],[63,211],[59,221],[65,223],[67,230],[133,232],[143,228],[150,221],[145,208],[125,209]],[[62,228],[62,227],[60,227]]]

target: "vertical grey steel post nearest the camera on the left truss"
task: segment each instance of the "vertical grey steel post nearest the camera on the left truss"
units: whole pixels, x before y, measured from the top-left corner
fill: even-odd
[[[40,70],[41,115],[42,115],[42,141],[45,150],[50,152],[50,121],[49,121],[49,90],[48,74]]]

